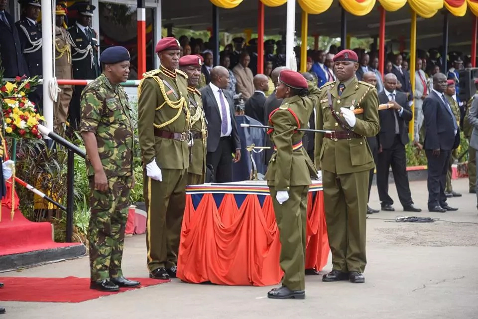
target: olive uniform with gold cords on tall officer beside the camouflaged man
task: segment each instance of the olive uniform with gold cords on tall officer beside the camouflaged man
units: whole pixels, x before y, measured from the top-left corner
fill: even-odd
[[[162,181],[144,170],[149,271],[176,266],[189,167],[187,75],[163,67],[145,73],[138,87],[138,135],[144,165],[154,158]],[[169,136],[168,136],[169,135]]]

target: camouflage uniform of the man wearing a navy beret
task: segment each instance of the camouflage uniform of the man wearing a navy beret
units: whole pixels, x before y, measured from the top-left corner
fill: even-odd
[[[90,179],[91,217],[88,231],[92,281],[122,276],[124,229],[133,182],[133,128],[126,93],[101,74],[81,95],[81,132],[92,132],[108,178],[108,191],[95,189],[95,171],[86,160]]]

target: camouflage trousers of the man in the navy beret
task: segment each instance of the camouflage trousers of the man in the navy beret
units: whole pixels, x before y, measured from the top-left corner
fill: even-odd
[[[92,281],[121,277],[124,229],[132,176],[109,177],[107,192],[95,190],[90,176],[90,271]]]

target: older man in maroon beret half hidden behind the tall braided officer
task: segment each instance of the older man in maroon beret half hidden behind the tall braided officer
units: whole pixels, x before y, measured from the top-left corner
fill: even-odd
[[[201,73],[201,59],[196,55],[185,55],[179,59],[179,66],[188,75],[190,127],[194,141],[188,168],[188,185],[204,183],[206,175],[206,139],[208,128],[203,109],[201,93],[196,88]]]

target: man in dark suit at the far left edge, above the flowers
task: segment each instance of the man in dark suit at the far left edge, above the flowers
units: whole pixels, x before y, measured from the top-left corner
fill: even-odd
[[[0,57],[5,78],[29,75],[23,51],[21,49],[18,29],[13,17],[5,11],[8,0],[0,0]]]

